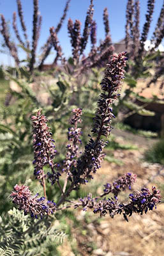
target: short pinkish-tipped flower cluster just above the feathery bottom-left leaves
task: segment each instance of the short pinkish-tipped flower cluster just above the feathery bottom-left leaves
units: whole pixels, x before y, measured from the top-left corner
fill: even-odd
[[[45,197],[38,198],[38,194],[33,196],[27,186],[15,185],[10,197],[13,204],[19,206],[19,210],[24,211],[24,215],[31,214],[31,217],[38,219],[45,214],[53,214],[56,212],[56,203],[47,201]]]

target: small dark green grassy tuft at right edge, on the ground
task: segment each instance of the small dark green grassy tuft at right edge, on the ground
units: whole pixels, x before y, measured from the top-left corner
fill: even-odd
[[[164,140],[161,139],[145,152],[145,160],[151,163],[164,164]]]

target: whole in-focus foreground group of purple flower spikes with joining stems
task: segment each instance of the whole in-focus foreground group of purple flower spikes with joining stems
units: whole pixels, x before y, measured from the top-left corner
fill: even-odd
[[[124,78],[124,67],[127,60],[126,52],[113,54],[110,57],[105,69],[105,76],[100,83],[102,92],[93,118],[92,135],[89,134],[90,139],[83,153],[79,149],[82,131],[78,127],[78,123],[82,122],[82,109],[72,110],[73,116],[70,120],[72,127],[68,129],[69,144],[66,145],[66,157],[61,165],[54,164],[53,161],[56,156],[55,141],[52,139],[52,132],[47,126],[46,116],[41,115],[39,110],[36,116],[31,117],[33,122],[34,175],[43,186],[44,197],[38,198],[38,194],[33,196],[27,186],[15,185],[10,196],[13,203],[19,205],[19,210],[24,210],[24,214],[29,213],[31,217],[38,218],[40,216],[42,218],[45,214],[49,215],[59,209],[64,209],[64,207],[59,208],[59,206],[68,202],[66,207],[77,208],[81,206],[84,211],[93,209],[93,212],[100,213],[100,216],[105,216],[108,212],[112,218],[116,214],[123,214],[124,219],[128,221],[127,216],[131,216],[134,212],[146,213],[148,210],[153,210],[153,207],[156,207],[160,202],[160,191],[154,186],[152,193],[147,188],[131,193],[128,204],[118,202],[117,195],[126,188],[131,189],[136,181],[136,175],[133,173],[126,173],[112,184],[105,184],[103,195],[96,198],[89,194],[85,198],[80,198],[78,202],[70,202],[69,200],[71,191],[77,190],[81,185],[93,179],[94,174],[101,167],[101,162],[105,156],[103,148],[107,145],[104,138],[110,135],[112,118],[115,118],[114,113],[112,113],[112,104],[119,97],[118,92]],[[50,168],[50,172],[44,172],[45,166]],[[60,182],[62,176],[65,177],[63,187]],[[45,180],[48,180],[52,186],[59,186],[61,197],[58,202],[54,203],[47,200]],[[104,198],[109,193],[114,196]]]

